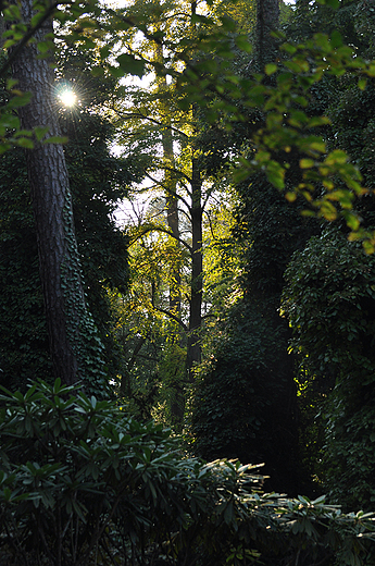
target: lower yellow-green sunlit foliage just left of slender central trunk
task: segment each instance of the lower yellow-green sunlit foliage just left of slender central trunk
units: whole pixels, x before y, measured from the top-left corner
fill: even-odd
[[[180,269],[186,259],[163,232],[150,232],[137,239],[137,233],[147,226],[128,232],[133,241],[130,285],[121,296],[112,295],[115,333],[124,357],[121,395],[137,418],[147,420],[152,415],[157,421],[173,426],[172,407],[186,376],[186,341],[184,344],[180,336],[186,327],[176,322],[176,313],[171,316],[170,297],[171,290],[183,293],[186,288],[185,278],[178,287],[173,278],[176,267]],[[153,226],[164,227],[161,223]]]

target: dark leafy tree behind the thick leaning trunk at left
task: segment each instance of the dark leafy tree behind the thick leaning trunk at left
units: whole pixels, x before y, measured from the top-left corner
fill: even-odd
[[[73,195],[75,231],[84,271],[86,300],[103,344],[107,379],[115,380],[122,361],[112,332],[108,288],[126,290],[127,238],[111,214],[136,179],[134,162],[109,152],[113,126],[100,109],[115,81],[90,76],[92,51],[74,49],[59,53],[59,81],[54,86],[54,111],[68,143],[64,156]],[[72,85],[77,104],[64,108],[58,95]],[[78,98],[80,104],[78,106]],[[25,156],[21,149],[5,153],[1,183],[1,357],[2,381],[9,387],[25,387],[35,374],[51,379],[47,329],[37,269],[35,223],[29,207]],[[32,330],[30,330],[32,329]]]

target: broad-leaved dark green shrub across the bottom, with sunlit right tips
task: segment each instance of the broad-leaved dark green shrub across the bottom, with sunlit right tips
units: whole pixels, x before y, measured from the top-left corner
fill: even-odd
[[[0,404],[1,564],[371,564],[372,515],[262,494],[253,467],[187,458],[108,401],[58,380]]]

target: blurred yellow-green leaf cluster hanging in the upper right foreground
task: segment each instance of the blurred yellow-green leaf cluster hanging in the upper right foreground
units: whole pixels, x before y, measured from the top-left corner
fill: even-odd
[[[342,217],[353,234],[366,237],[372,251],[371,232],[359,232],[361,218],[353,208],[357,198],[366,193],[360,169],[346,148],[328,146],[324,130],[330,124],[329,116],[314,107],[327,79],[334,83],[345,76],[355,88],[365,89],[375,73],[373,60],[359,57],[337,29],[296,42],[278,34],[277,62],[268,62],[262,73],[251,63],[243,72],[236,64],[233,67],[236,50],[250,52],[251,45],[236,35],[234,23],[223,19],[215,32],[208,19],[198,17],[198,22],[199,39],[189,40],[189,48],[197,41],[202,56],[197,65],[186,63],[186,72],[178,78],[185,93],[182,104],[200,106],[209,122],[221,122],[227,130],[248,122],[250,112],[255,127],[242,155],[237,150],[235,180],[264,171],[290,201],[303,196],[305,213],[329,221]],[[257,126],[259,111],[263,120]]]

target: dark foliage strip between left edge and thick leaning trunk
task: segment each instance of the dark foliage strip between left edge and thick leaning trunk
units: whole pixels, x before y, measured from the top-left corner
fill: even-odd
[[[37,372],[42,379],[52,374],[23,162],[20,150],[13,150],[0,167],[0,379],[14,389]]]

